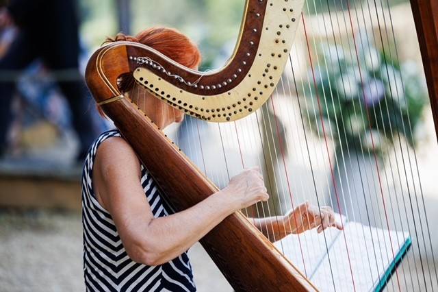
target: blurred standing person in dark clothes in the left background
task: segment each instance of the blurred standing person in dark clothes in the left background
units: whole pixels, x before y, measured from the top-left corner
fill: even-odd
[[[16,26],[18,32],[0,59],[0,156],[7,149],[12,122],[12,97],[16,73],[36,59],[53,71],[72,112],[79,138],[77,160],[101,132],[92,118],[83,77],[79,73],[79,35],[75,0],[10,0],[0,8],[0,29]],[[18,77],[18,76],[17,76]]]

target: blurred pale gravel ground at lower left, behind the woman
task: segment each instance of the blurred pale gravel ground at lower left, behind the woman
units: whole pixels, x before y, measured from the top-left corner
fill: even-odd
[[[65,212],[0,212],[0,291],[84,291],[81,217]],[[196,244],[198,291],[232,291]]]

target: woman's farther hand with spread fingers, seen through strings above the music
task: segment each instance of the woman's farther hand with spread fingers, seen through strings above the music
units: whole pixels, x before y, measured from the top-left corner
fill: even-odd
[[[283,225],[288,234],[299,234],[313,228],[318,228],[318,233],[329,227],[342,230],[342,223],[335,219],[335,213],[329,206],[318,209],[309,202],[301,204],[295,210],[283,217]]]

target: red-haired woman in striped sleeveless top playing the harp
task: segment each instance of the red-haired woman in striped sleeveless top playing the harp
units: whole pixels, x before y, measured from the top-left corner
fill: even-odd
[[[197,47],[173,29],[146,29],[136,37],[119,34],[108,41],[120,40],[140,42],[191,69],[201,62]],[[183,121],[182,112],[136,86],[132,75],[120,77],[119,87],[159,128]],[[90,147],[82,182],[84,273],[90,291],[195,291],[186,251],[225,217],[268,199],[261,173],[248,169],[192,208],[171,214],[147,165],[118,130],[104,132]],[[251,221],[276,240],[312,228],[342,228],[329,207],[308,203],[284,217]]]

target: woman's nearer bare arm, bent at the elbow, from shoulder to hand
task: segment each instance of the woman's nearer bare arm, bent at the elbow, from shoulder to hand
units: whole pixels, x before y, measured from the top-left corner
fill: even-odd
[[[231,213],[268,199],[258,171],[248,170],[192,208],[155,219],[140,176],[140,163],[126,141],[112,137],[102,143],[94,164],[94,192],[112,215],[129,257],[146,265],[168,262]]]

